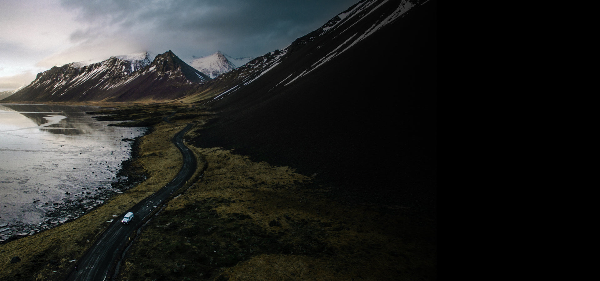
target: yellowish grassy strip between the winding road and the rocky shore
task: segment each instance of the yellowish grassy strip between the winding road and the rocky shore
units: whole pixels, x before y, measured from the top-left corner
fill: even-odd
[[[116,117],[125,118],[119,120],[147,118],[140,117],[139,110],[134,111],[133,114],[136,115],[133,117],[119,111],[130,107],[116,104],[111,104],[110,107],[118,108],[112,113]],[[147,108],[147,115],[162,117],[167,110],[168,115],[172,113],[171,105],[158,105],[162,110],[160,112],[156,107],[157,105],[142,105],[142,108]],[[114,123],[122,122],[119,120],[115,119]],[[128,180],[115,183],[125,185],[127,189],[77,219],[35,232],[36,235],[0,243],[0,280],[30,280],[32,276],[44,280],[63,280],[73,270],[75,262],[95,243],[98,235],[117,223],[115,220],[118,217],[175,177],[178,172],[175,167],[182,161],[182,156],[170,140],[182,128],[182,124],[160,122],[145,127],[150,129],[137,139],[130,161],[125,162],[124,167],[119,170],[121,175],[128,175]],[[145,180],[138,182],[136,179]]]

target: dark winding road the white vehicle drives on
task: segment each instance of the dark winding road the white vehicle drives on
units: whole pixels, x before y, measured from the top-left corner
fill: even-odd
[[[133,231],[140,228],[140,226],[142,226],[142,220],[155,208],[160,206],[170,194],[184,185],[196,171],[196,157],[183,143],[184,134],[191,126],[192,124],[188,124],[181,132],[178,132],[175,137],[173,137],[173,143],[184,156],[184,164],[175,179],[128,210],[133,211],[135,214],[133,222],[130,222],[128,225],[120,222],[122,216],[124,216],[127,211],[117,217],[116,219],[119,221],[113,222],[104,232],[102,237],[96,241],[94,246],[92,246],[88,252],[76,262],[77,271],[73,271],[66,280],[95,281],[110,280],[112,278],[116,259],[121,256],[124,247],[126,246],[125,244]]]

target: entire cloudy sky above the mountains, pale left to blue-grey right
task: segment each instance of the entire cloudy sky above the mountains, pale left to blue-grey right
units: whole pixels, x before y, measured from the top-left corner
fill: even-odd
[[[0,0],[0,92],[71,62],[284,49],[359,0]]]

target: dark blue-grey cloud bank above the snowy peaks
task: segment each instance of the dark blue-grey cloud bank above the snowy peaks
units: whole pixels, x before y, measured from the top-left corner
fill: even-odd
[[[77,1],[82,28],[73,42],[126,34],[154,52],[182,57],[221,50],[233,56],[259,56],[285,47],[318,28],[358,0]]]

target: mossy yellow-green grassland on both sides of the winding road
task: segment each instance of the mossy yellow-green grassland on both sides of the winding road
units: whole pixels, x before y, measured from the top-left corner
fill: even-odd
[[[0,245],[0,280],[62,280],[73,270],[70,261],[83,255],[113,214],[175,176],[181,155],[170,142],[173,134],[214,116],[185,104],[120,109],[107,118],[155,123],[130,165],[148,179],[80,219]],[[202,137],[195,132],[185,139]],[[436,279],[433,217],[406,206],[343,201],[332,197],[334,186],[293,168],[187,144],[199,164],[206,163],[199,167],[203,176],[190,180],[143,227],[119,280]],[[13,256],[21,261],[11,264]]]

